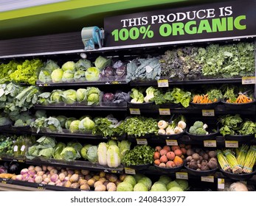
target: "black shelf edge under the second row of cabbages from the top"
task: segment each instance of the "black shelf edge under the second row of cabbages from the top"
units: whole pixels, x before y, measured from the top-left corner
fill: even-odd
[[[126,111],[127,107],[111,107],[111,106],[56,106],[56,105],[39,105],[35,104],[35,110],[91,110],[91,111]]]

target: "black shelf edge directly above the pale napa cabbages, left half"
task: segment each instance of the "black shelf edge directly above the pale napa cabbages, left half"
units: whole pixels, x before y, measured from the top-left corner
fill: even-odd
[[[113,137],[103,137],[101,135],[91,135],[83,133],[61,133],[61,132],[32,132],[32,135],[39,136],[51,136],[58,138],[80,138],[80,139],[97,139],[97,140],[115,140],[122,141],[126,139],[126,136],[113,136]]]

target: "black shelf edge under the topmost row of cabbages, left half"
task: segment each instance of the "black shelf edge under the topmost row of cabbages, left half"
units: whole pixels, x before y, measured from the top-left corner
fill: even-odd
[[[70,87],[70,86],[97,86],[97,85],[128,85],[124,80],[109,80],[97,82],[36,82],[38,87]]]

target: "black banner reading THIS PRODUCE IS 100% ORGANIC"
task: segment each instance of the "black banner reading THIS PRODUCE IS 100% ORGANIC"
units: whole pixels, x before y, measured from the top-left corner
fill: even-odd
[[[225,1],[108,17],[104,46],[254,37],[255,8],[256,0]]]

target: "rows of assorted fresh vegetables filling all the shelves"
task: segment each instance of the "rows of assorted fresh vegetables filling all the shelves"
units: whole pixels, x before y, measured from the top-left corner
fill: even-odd
[[[189,112],[187,115],[177,113],[165,117],[148,117],[148,114],[159,108],[202,110],[219,105],[232,110],[241,107],[253,110],[256,101],[251,86],[187,89],[176,86],[157,88],[153,84],[143,88],[136,87],[136,82],[252,76],[255,72],[253,51],[252,43],[210,44],[206,47],[172,49],[157,57],[122,61],[100,56],[94,61],[69,60],[61,66],[53,60],[43,63],[38,59],[2,63],[0,69],[4,78],[0,85],[0,127],[5,133],[24,132],[29,135],[2,135],[0,157],[21,158],[25,163],[35,160],[42,165],[62,163],[66,167],[69,163],[76,166],[88,163],[91,170],[101,169],[100,172],[90,169],[71,171],[69,168],[30,166],[15,171],[15,175],[3,169],[2,177],[85,191],[188,190],[186,180],[172,181],[168,177],[177,171],[187,171],[199,177],[221,171],[232,180],[239,180],[240,177],[241,180],[249,180],[256,172],[254,145],[239,144],[238,149],[228,150],[201,149],[182,143],[181,138],[187,136],[193,143],[216,140],[222,136],[229,140],[243,138],[249,143],[256,133],[253,118],[231,115],[228,111],[215,118],[191,118]],[[96,86],[99,85],[97,82],[109,81],[134,82],[135,86],[124,90]],[[84,83],[84,86],[67,88],[72,82]],[[95,85],[90,83],[88,86],[87,82]],[[65,88],[53,89],[51,85],[64,85]],[[40,110],[37,110],[38,105]],[[125,108],[122,110],[125,118],[116,113],[114,116],[103,116],[101,113],[100,116],[99,113],[73,116],[72,113],[65,113],[64,116],[61,110],[58,115],[55,115],[56,111],[53,115],[47,110],[51,107],[62,110],[68,107],[84,110]],[[145,116],[128,116],[128,108],[142,108],[148,113]],[[62,134],[68,136],[57,138]],[[38,135],[41,137],[38,138]],[[94,138],[94,141],[89,138]],[[139,140],[146,140],[146,143],[141,145]],[[151,140],[155,145],[151,144]],[[176,140],[176,146],[166,145],[167,140]],[[136,141],[137,145],[134,144]],[[105,168],[110,170],[107,169],[106,173]],[[125,168],[134,168],[136,174],[108,174],[111,168],[122,172]],[[167,176],[151,180],[150,176],[139,174],[140,171],[159,171]]]

